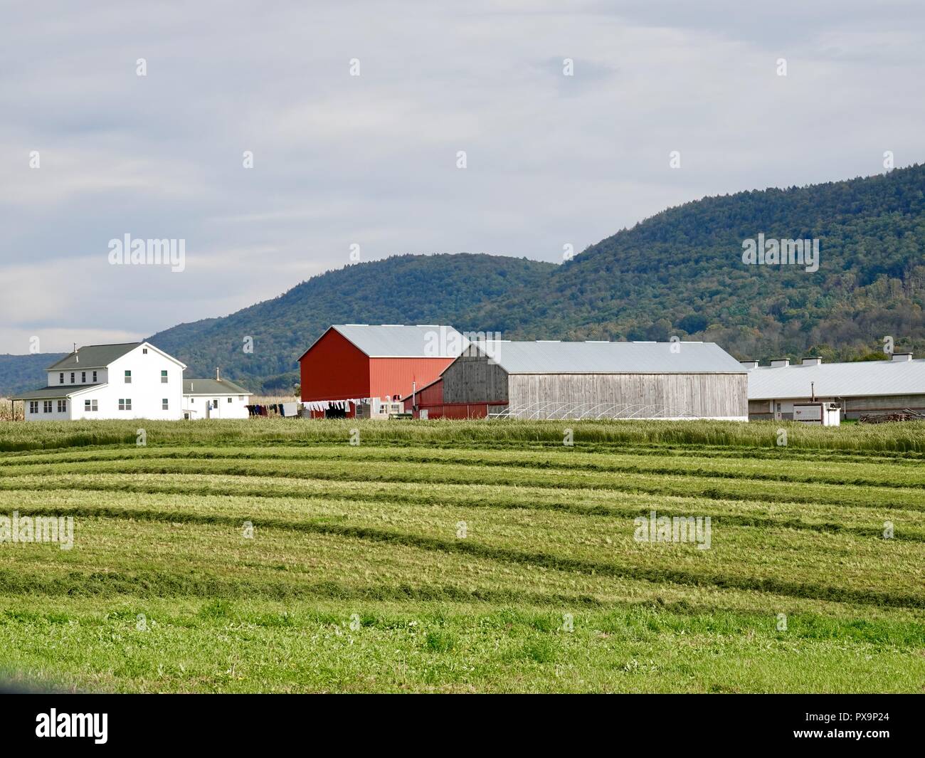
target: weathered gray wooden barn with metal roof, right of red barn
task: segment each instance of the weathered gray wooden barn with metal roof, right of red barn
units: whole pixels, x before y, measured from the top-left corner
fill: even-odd
[[[442,383],[445,404],[519,418],[748,417],[746,368],[713,342],[492,342]]]

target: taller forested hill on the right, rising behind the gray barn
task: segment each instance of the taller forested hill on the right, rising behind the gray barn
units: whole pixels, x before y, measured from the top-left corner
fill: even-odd
[[[663,211],[487,314],[512,334],[719,342],[737,357],[830,359],[884,336],[925,350],[925,166],[709,197]],[[820,266],[746,266],[742,242],[818,239]]]

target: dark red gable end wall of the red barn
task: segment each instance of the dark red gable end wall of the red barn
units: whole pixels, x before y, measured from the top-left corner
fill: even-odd
[[[336,329],[328,329],[299,364],[303,402],[372,396],[369,358]]]

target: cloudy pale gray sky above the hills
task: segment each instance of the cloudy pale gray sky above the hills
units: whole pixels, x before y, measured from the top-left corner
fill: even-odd
[[[3,7],[0,353],[357,259],[561,262],[672,205],[925,158],[920,2]],[[182,270],[114,264],[127,234],[182,241]]]

